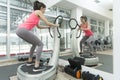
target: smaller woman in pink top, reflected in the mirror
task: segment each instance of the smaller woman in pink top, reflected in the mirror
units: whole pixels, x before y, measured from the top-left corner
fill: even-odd
[[[82,54],[83,53],[82,44],[85,43],[85,41],[87,39],[89,39],[90,36],[93,35],[93,32],[91,31],[91,29],[90,29],[90,27],[88,25],[87,17],[86,16],[81,16],[80,19],[81,19],[82,24],[79,26],[78,30],[81,29],[85,33],[85,36],[80,41],[80,51],[81,52],[79,54]],[[90,44],[89,44],[89,48],[92,49],[92,46]]]

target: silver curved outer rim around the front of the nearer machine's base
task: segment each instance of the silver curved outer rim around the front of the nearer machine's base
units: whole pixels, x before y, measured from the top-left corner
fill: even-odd
[[[21,67],[24,64],[20,65],[17,69],[17,77],[19,80],[53,80],[56,77],[56,67],[53,66],[51,69],[47,71],[43,71],[40,74],[28,74],[21,70]]]

